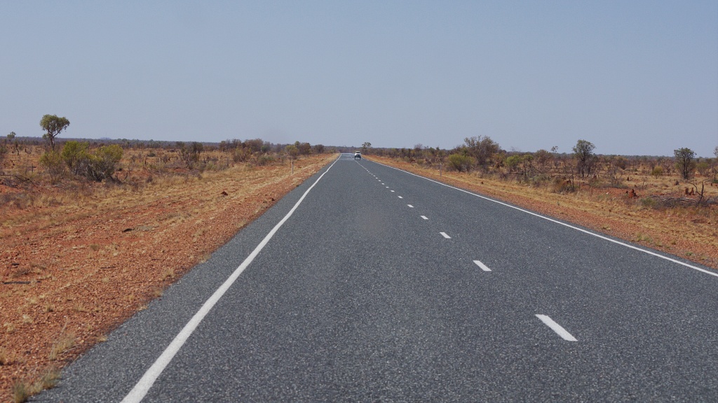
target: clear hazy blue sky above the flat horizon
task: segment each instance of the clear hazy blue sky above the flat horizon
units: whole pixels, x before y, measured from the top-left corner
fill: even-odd
[[[718,1],[2,1],[0,77],[0,136],[712,156]]]

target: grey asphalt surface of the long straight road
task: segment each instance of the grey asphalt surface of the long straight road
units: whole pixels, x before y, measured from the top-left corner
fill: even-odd
[[[32,401],[120,402],[316,178]],[[712,275],[345,154],[142,401],[714,402],[717,295]]]

